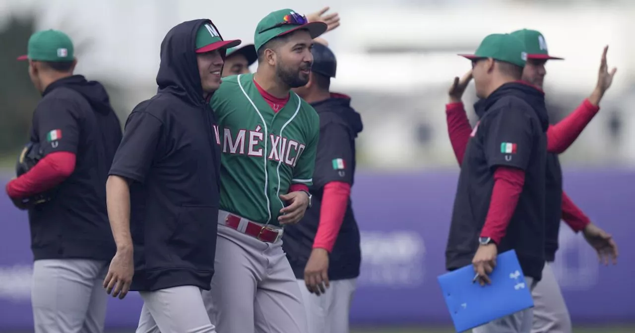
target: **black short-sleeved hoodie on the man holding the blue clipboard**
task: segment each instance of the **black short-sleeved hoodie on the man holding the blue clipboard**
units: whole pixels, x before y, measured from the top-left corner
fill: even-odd
[[[523,273],[542,277],[545,242],[545,163],[549,118],[542,91],[511,82],[474,105],[479,122],[472,131],[458,179],[446,268],[471,264],[485,224],[495,167],[525,171],[525,185],[498,253],[514,249]]]

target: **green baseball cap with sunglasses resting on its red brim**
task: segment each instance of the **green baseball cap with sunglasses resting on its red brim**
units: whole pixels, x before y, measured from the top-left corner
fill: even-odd
[[[258,51],[266,42],[271,41],[275,37],[289,34],[298,29],[306,29],[309,30],[311,38],[315,38],[324,34],[326,27],[326,23],[309,22],[306,16],[300,15],[293,10],[277,10],[272,11],[258,22],[253,41],[256,51]]]

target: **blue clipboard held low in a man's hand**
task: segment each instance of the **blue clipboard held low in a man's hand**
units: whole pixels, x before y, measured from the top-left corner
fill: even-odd
[[[472,265],[439,275],[445,303],[457,332],[533,307],[530,285],[525,282],[516,251],[498,254],[490,275],[491,285],[472,283]]]

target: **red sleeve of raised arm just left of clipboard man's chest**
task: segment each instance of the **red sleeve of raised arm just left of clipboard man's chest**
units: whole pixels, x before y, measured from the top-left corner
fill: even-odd
[[[465,114],[463,103],[450,103],[445,105],[446,122],[448,123],[448,135],[458,165],[463,162],[467,141],[472,133],[472,126]]]

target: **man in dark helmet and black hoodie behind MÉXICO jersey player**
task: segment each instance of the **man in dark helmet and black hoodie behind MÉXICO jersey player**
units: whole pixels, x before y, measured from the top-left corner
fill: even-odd
[[[283,249],[302,291],[309,333],[348,332],[361,263],[350,196],[355,138],[363,126],[351,98],[329,91],[337,69],[333,52],[319,42],[311,52],[309,83],[293,91],[319,115],[318,152],[309,188],[313,204],[300,223],[285,228]]]

